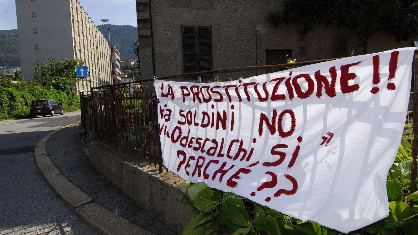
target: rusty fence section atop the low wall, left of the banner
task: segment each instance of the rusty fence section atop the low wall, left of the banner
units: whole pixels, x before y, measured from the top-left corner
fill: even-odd
[[[95,87],[91,104],[94,132],[99,140],[163,171],[152,85],[131,82]]]

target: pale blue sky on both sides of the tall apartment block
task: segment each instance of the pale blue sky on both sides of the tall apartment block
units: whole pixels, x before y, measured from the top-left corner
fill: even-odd
[[[96,25],[107,18],[112,25],[137,26],[135,0],[79,0],[79,3]],[[15,28],[18,28],[15,0],[0,0],[0,30]]]

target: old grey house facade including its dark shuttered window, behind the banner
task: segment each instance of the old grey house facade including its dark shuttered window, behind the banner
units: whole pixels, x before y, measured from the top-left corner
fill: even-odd
[[[136,0],[136,8],[141,79],[282,64],[286,54],[298,61],[349,56],[353,50],[362,54],[357,36],[346,28],[317,26],[304,35],[296,24],[271,26],[265,18],[283,9],[283,0],[260,0],[256,5],[253,0]],[[405,46],[412,46],[411,41],[398,43],[393,35],[376,33],[368,52]],[[256,73],[219,76],[237,79]]]

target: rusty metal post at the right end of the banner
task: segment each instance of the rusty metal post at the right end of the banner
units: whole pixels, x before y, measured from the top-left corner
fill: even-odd
[[[415,180],[417,179],[417,155],[418,155],[418,79],[415,77],[415,63],[418,61],[418,53],[415,51],[414,59],[412,61],[412,77],[413,77],[413,139],[412,142],[412,166],[411,166],[411,186],[410,193],[417,191]],[[413,202],[409,201],[410,207],[413,207]]]

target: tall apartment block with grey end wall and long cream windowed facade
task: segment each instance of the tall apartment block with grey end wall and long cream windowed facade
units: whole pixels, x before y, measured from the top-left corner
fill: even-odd
[[[109,43],[76,0],[16,0],[22,74],[31,79],[36,60],[54,56],[79,59],[89,68],[91,85],[111,84]],[[74,68],[75,69],[75,68]],[[74,84],[78,94],[90,81]]]

